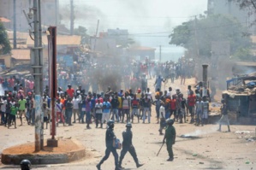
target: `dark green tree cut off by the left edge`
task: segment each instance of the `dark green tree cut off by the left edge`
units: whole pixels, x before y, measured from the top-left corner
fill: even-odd
[[[0,55],[8,54],[11,48],[9,45],[9,38],[3,23],[0,21]]]

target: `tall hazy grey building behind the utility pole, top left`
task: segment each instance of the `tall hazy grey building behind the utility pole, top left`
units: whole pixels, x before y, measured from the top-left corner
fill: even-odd
[[[1,0],[0,2],[0,16],[8,19],[10,22],[5,23],[7,29],[14,29],[14,14],[16,16],[16,30],[19,32],[27,32],[29,29],[27,19],[23,14],[23,10],[26,13],[29,12],[29,8],[33,7],[33,0],[19,0],[15,1],[16,11],[14,12],[13,0]],[[41,0],[41,14],[42,25],[44,26],[56,26],[58,23],[59,0]]]

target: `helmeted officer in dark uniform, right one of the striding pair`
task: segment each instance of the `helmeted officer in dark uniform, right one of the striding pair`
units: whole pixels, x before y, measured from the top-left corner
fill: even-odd
[[[121,155],[119,159],[119,167],[122,167],[122,159],[124,158],[124,155],[126,155],[127,152],[129,152],[136,163],[136,167],[141,167],[143,164],[139,163],[139,160],[137,158],[137,154],[133,145],[133,132],[131,131],[132,124],[128,122],[126,124],[126,131],[122,132],[122,150],[121,150]]]

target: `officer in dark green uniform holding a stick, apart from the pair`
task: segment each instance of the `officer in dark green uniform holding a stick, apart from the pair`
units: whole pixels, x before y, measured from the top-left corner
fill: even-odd
[[[172,145],[176,143],[176,129],[174,126],[174,120],[168,119],[166,120],[167,127],[165,129],[165,134],[164,134],[164,140],[163,144],[165,143],[165,138],[166,138],[166,146],[167,146],[167,151],[169,154],[169,159],[167,161],[173,161],[173,151],[172,151]]]

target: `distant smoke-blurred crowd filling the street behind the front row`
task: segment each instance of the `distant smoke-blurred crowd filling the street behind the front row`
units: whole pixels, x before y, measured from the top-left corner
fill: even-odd
[[[80,69],[73,67],[59,67],[58,68],[58,86],[65,89],[68,84],[82,85],[86,91],[99,92],[106,89],[104,88],[105,82],[102,79],[115,74],[118,81],[115,82],[117,90],[122,87],[124,89],[133,89],[136,91],[140,84],[146,86],[146,80],[162,75],[164,79],[170,79],[174,83],[176,79],[181,78],[181,85],[185,84],[185,79],[191,78],[194,73],[194,62],[186,57],[182,57],[178,62],[152,62],[146,58],[145,62],[130,61],[125,64],[118,64],[116,61],[98,60],[98,62],[80,62],[77,66]],[[67,69],[68,68],[68,69]],[[45,76],[45,85],[49,84],[48,76]],[[108,82],[107,82],[108,83]],[[112,86],[112,85],[111,85]]]

